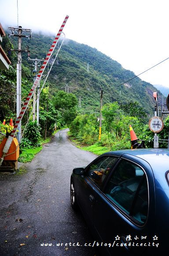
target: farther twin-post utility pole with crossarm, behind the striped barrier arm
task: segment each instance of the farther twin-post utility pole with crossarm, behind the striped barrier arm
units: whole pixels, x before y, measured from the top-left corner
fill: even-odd
[[[37,78],[37,67],[41,66],[38,64],[40,63],[40,61],[44,61],[44,59],[38,60],[37,58],[35,58],[35,59],[28,58],[28,60],[32,60],[33,64],[34,64],[34,70],[33,70],[34,79],[33,79],[33,81],[35,82],[35,80]],[[40,97],[40,83],[38,84],[38,87],[37,87],[37,124],[39,124],[39,97]],[[36,112],[36,91],[33,92],[33,121],[35,121],[35,119],[36,119],[35,112]]]

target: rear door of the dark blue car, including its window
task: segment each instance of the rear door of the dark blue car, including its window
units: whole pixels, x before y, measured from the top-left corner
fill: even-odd
[[[152,240],[154,178],[151,167],[142,162],[140,165],[121,159],[97,195],[93,223],[107,255],[139,255],[147,250],[149,239]],[[139,243],[146,245],[136,247]]]

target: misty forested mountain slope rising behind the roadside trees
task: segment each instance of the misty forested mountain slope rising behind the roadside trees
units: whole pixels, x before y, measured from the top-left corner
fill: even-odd
[[[45,58],[53,40],[54,36],[33,33],[29,43],[30,58]],[[24,49],[27,41],[22,40],[22,42]],[[12,43],[16,49],[16,38],[12,38]],[[29,61],[28,64],[26,54],[23,53],[22,56],[24,65],[30,69],[31,63]],[[70,92],[77,98],[81,96],[81,106],[86,111],[99,109],[102,88],[103,104],[114,101],[121,104],[137,101],[148,114],[152,115],[155,103],[153,92],[157,89],[139,77],[126,82],[134,76],[132,71],[126,70],[117,61],[97,49],[66,39],[47,81],[51,94],[55,94],[58,90],[65,90],[66,84],[73,87],[70,88]],[[160,91],[158,95],[161,102]]]

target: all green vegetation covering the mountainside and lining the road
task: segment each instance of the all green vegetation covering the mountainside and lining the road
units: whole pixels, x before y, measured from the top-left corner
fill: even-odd
[[[45,58],[54,37],[33,34],[29,43],[30,58]],[[0,120],[15,119],[16,105],[16,62],[17,56],[9,49],[17,48],[17,41],[12,38],[12,44],[4,40],[4,48],[12,61],[9,71],[0,74]],[[26,49],[27,42],[23,40],[22,49]],[[22,101],[33,85],[31,61],[26,53],[22,58]],[[52,58],[54,58],[53,56]],[[89,64],[89,71],[87,65]],[[49,68],[51,61],[49,63]],[[59,55],[51,69],[51,73],[40,94],[40,127],[32,122],[26,128],[26,136],[22,139],[21,148],[39,146],[40,137],[50,135],[54,129],[64,126],[70,127],[71,135],[84,145],[96,144],[110,150],[129,148],[129,124],[132,125],[137,136],[147,140],[146,145],[152,147],[153,133],[145,124],[154,112],[153,92],[157,89],[150,83],[134,77],[132,71],[124,69],[117,61],[88,45],[66,39]],[[41,81],[41,84],[43,81]],[[72,93],[64,92],[68,84]],[[71,88],[73,87],[73,88]],[[103,125],[102,139],[99,136],[99,106],[100,90],[103,89]],[[161,93],[158,91],[159,102]],[[78,98],[81,96],[81,107]],[[31,100],[32,101],[32,100]],[[29,104],[22,119],[24,128],[32,105]],[[2,125],[1,125],[2,126]],[[168,130],[168,120],[165,133]],[[4,127],[2,127],[5,129]],[[163,132],[164,133],[164,132]],[[162,133],[162,137],[164,134]],[[35,136],[36,135],[36,136]],[[166,137],[166,136],[165,136]]]

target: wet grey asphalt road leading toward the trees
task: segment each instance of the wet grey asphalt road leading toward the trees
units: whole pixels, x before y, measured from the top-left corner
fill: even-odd
[[[81,212],[70,206],[72,169],[86,166],[96,155],[73,146],[67,130],[56,133],[22,166],[22,176],[0,174],[0,256],[98,256],[84,246],[93,239]],[[80,246],[72,246],[77,242]]]

